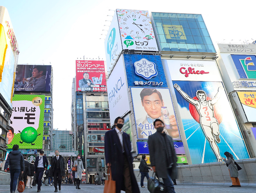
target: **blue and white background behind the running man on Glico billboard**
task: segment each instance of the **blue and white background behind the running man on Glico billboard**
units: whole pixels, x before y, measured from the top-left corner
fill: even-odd
[[[204,81],[172,81],[173,84],[178,84],[181,89],[187,93],[190,98],[196,96],[197,90],[205,91],[206,100],[213,99],[218,92],[220,86],[223,87],[222,82],[204,82]],[[175,89],[175,94],[178,102],[178,111],[180,111],[186,140],[192,159],[192,164],[217,162],[218,159],[207,140],[201,125],[192,117],[190,113],[189,102],[183,98],[180,92]],[[194,106],[194,105],[191,105]],[[214,105],[214,117],[219,118],[219,138],[220,143],[216,143],[220,156],[224,156],[224,152],[229,152],[234,155],[234,159],[247,159],[249,158],[243,137],[237,125],[232,108],[229,104],[227,96],[222,91],[220,99]]]

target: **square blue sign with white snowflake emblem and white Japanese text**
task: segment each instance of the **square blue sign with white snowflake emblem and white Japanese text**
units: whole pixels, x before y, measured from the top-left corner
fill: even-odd
[[[128,86],[168,87],[161,57],[123,54]]]

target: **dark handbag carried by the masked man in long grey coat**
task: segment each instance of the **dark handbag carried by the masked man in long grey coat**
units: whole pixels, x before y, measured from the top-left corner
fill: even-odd
[[[155,172],[148,179],[148,190],[150,193],[166,193],[164,184],[159,181]]]

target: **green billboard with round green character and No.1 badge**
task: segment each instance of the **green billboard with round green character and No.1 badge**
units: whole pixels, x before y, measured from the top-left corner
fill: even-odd
[[[12,104],[8,148],[42,149],[45,95],[15,94]]]

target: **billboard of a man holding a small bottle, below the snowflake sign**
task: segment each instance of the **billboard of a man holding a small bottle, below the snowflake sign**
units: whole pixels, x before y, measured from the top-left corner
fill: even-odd
[[[131,87],[138,140],[146,140],[156,132],[153,122],[161,119],[164,131],[173,140],[181,140],[168,88]]]

